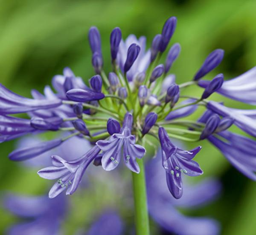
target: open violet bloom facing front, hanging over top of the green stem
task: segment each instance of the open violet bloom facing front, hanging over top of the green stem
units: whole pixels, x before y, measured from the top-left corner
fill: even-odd
[[[135,136],[131,135],[132,123],[133,116],[127,112],[119,134],[111,135],[108,140],[99,140],[96,142],[96,145],[103,152],[103,169],[107,171],[115,169],[121,160],[121,155],[123,155],[125,165],[133,172],[140,172],[136,158],[142,158],[146,150],[143,146],[135,143]]]

